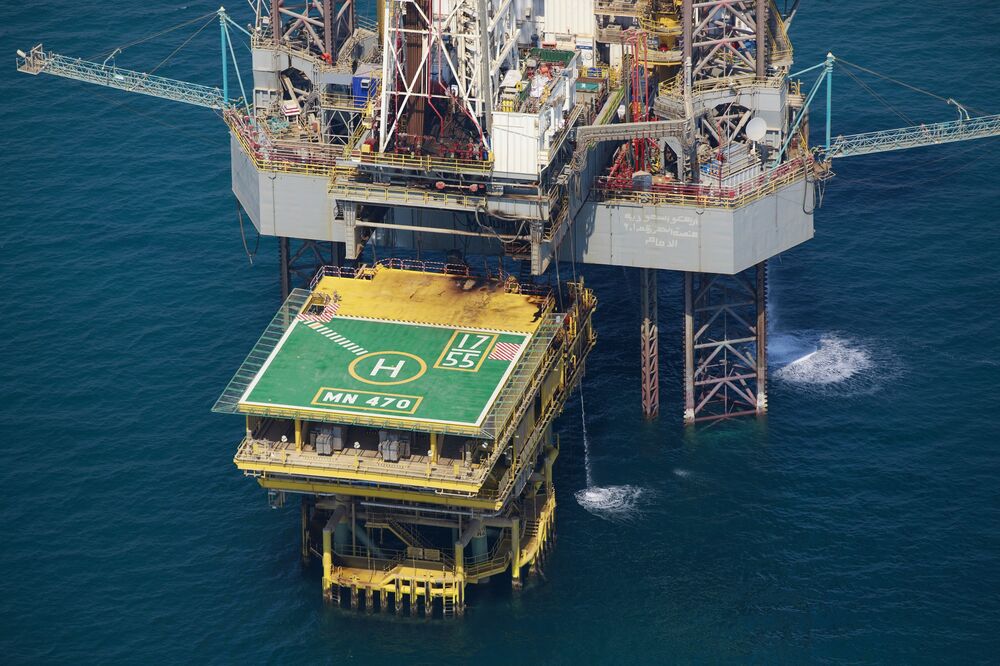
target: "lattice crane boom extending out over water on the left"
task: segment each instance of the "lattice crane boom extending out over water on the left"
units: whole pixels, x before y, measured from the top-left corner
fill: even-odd
[[[26,74],[52,74],[209,109],[221,110],[227,106],[225,95],[218,88],[120,69],[113,65],[108,66],[79,58],[68,58],[58,53],[47,53],[41,44],[28,53],[18,52],[17,69]]]

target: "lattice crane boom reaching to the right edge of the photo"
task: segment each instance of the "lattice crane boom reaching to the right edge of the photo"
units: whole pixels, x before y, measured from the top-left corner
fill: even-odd
[[[853,157],[991,136],[1000,136],[1000,115],[839,136],[830,144],[825,156],[827,159]]]

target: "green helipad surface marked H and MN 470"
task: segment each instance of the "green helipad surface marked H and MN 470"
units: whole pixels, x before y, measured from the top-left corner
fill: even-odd
[[[530,337],[296,319],[239,404],[479,426]]]

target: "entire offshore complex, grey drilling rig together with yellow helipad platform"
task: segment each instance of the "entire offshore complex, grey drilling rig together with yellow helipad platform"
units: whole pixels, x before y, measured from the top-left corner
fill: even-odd
[[[958,120],[832,136],[839,63],[791,72],[797,6],[378,0],[370,19],[352,0],[258,1],[248,26],[201,17],[219,22],[221,88],[41,45],[18,68],[221,114],[285,298],[215,406],[246,418],[236,465],[276,505],[301,497],[327,599],[451,616],[551,545],[552,424],[596,341],[577,265],[640,269],[646,417],[659,270],[683,276],[684,422],[762,414],[766,262],[812,238],[831,160],[1000,133],[949,100]],[[376,239],[441,261],[360,263]],[[536,280],[560,262],[573,280]]]

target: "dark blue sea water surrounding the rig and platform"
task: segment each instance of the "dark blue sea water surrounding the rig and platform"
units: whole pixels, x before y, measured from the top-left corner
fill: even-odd
[[[988,3],[802,4],[801,66],[832,50],[1000,110]],[[664,416],[644,423],[637,276],[587,267],[589,456],[575,399],[547,581],[474,590],[457,622],[358,617],[324,607],[297,509],[267,507],[232,465],[240,423],[209,412],[278,304],[276,244],[251,267],[240,240],[223,125],[13,69],[38,41],[92,57],[215,8],[0,9],[3,661],[996,661],[996,140],[836,165],[815,240],[770,267],[766,420],[682,429],[663,274]],[[159,71],[214,83],[214,39]],[[118,62],[148,71],[180,41]],[[954,114],[878,90],[916,121]],[[835,106],[835,132],[903,123],[843,75]],[[577,502],[588,464],[619,511]]]

